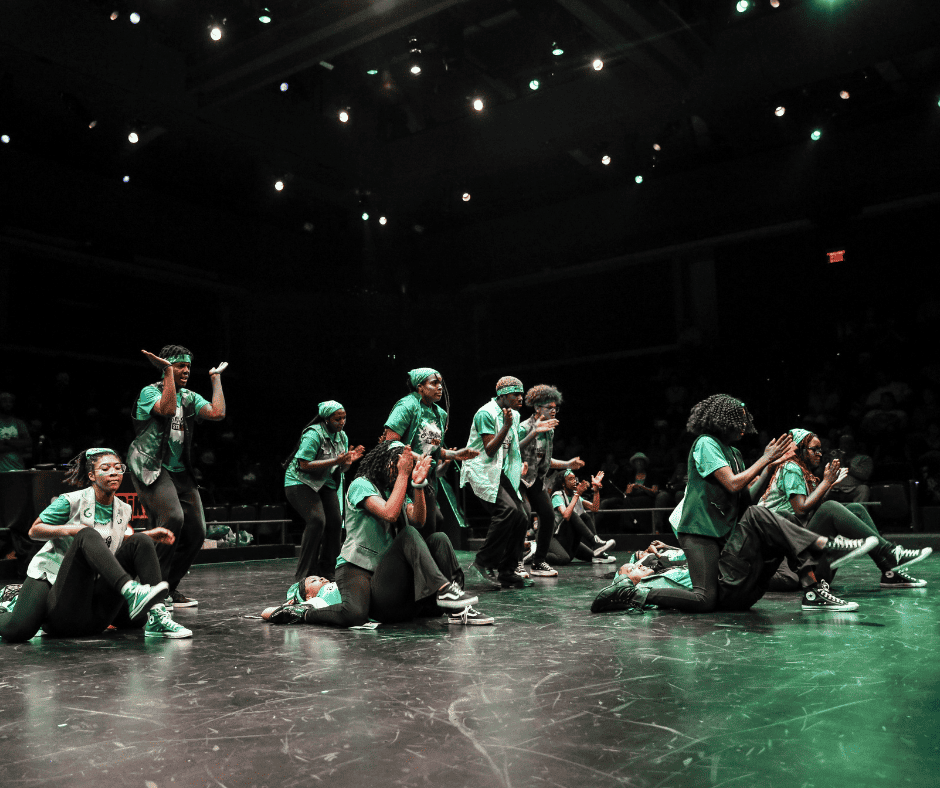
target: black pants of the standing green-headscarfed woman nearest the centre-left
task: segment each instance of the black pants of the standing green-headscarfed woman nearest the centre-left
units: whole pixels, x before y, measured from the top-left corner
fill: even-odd
[[[294,580],[310,575],[333,577],[343,529],[336,490],[321,487],[318,492],[306,484],[295,484],[285,487],[284,495],[306,523]]]

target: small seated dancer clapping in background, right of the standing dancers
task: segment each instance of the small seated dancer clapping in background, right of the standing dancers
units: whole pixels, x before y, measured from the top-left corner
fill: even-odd
[[[549,555],[556,564],[570,564],[575,558],[598,564],[613,563],[616,559],[606,553],[616,542],[604,541],[588,524],[585,509],[596,512],[600,504],[601,483],[604,472],[592,476],[590,483],[579,482],[574,471],[565,471],[555,477],[552,489],[552,508],[555,535],[551,540]],[[585,504],[581,496],[588,487],[594,490],[594,500]],[[541,529],[539,518],[539,529]]]

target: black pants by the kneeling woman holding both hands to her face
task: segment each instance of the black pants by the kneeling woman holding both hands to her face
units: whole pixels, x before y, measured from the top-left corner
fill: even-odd
[[[437,591],[447,583],[463,584],[454,547],[446,534],[431,534],[425,541],[412,526],[401,530],[374,572],[355,564],[336,570],[336,585],[343,601],[304,614],[307,624],[354,627],[371,616],[391,624],[438,611]]]

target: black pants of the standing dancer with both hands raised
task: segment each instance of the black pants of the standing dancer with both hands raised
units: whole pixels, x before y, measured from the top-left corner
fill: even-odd
[[[147,512],[150,527],[162,526],[176,537],[171,545],[157,545],[163,579],[170,590],[175,591],[206,540],[206,515],[199,490],[189,473],[175,473],[166,468],[150,486],[133,473],[131,481]]]

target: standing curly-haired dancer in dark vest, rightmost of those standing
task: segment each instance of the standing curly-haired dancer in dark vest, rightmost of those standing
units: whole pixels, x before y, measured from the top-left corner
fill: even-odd
[[[542,528],[541,524],[549,525],[555,520],[552,502],[545,488],[546,478],[553,470],[576,471],[584,467],[584,460],[580,457],[571,460],[556,460],[552,457],[555,427],[558,426],[555,416],[561,401],[561,392],[554,386],[544,383],[533,386],[526,392],[525,404],[535,408],[535,412],[519,425],[519,450],[525,468],[519,490],[525,496],[529,509],[534,509],[538,515],[540,526],[529,569],[529,573],[535,577],[558,576],[558,572],[545,560],[552,543],[552,529]]]

